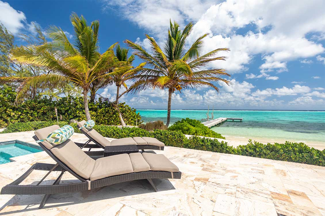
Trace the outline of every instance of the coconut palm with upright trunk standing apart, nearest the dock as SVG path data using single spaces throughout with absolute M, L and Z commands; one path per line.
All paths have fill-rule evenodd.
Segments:
M 134 49 L 135 55 L 147 62 L 150 68 L 143 68 L 137 75 L 136 81 L 130 86 L 129 92 L 138 92 L 146 88 L 168 89 L 167 123 L 170 123 L 170 110 L 172 94 L 176 90 L 181 92 L 182 88 L 197 88 L 200 86 L 210 86 L 219 90 L 213 81 L 223 81 L 229 84 L 227 79 L 220 76 L 230 76 L 225 69 L 210 68 L 202 69 L 214 60 L 225 60 L 225 56 L 215 56 L 220 51 L 230 51 L 228 48 L 215 49 L 209 53 L 201 55 L 203 39 L 208 34 L 200 36 L 187 50 L 186 42 L 188 35 L 192 31 L 193 24 L 190 22 L 183 31 L 179 30 L 179 25 L 170 21 L 167 41 L 164 50 L 157 42 L 146 35 L 150 42 L 151 54 L 142 46 L 126 40 L 125 43 Z

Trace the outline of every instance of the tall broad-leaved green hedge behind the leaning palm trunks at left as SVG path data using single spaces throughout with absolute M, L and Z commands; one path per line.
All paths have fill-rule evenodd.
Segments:
M 46 97 L 27 100 L 14 106 L 16 92 L 11 88 L 0 90 L 0 128 L 16 122 L 29 121 L 56 121 L 55 107 L 61 121 L 69 122 L 70 119 L 84 120 L 85 108 L 83 98 L 61 98 L 58 101 Z M 95 103 L 89 102 L 91 118 L 97 124 L 120 125 L 120 118 L 116 109 L 109 102 L 99 99 Z M 125 103 L 119 104 L 125 124 L 141 124 L 141 116 L 136 110 Z

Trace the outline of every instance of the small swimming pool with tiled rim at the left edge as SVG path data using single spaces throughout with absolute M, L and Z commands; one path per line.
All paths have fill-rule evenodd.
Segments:
M 9 158 L 43 151 L 40 146 L 20 140 L 0 142 L 0 164 L 11 162 Z

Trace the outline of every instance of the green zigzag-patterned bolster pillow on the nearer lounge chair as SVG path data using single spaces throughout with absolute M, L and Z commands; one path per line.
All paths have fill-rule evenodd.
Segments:
M 50 133 L 46 139 L 41 139 L 41 140 L 38 140 L 37 142 L 43 142 L 46 140 L 47 142 L 49 142 L 53 145 L 59 145 L 62 142 L 69 139 L 73 133 L 74 133 L 73 127 L 70 125 L 65 125 L 59 129 L 53 131 L 52 133 Z

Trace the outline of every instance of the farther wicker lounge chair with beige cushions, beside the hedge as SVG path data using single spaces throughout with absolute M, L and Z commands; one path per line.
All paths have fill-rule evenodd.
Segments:
M 127 137 L 109 141 L 94 128 L 86 129 L 85 127 L 82 127 L 85 122 L 86 121 L 84 120 L 77 123 L 79 130 L 85 134 L 87 138 L 89 138 L 89 140 L 85 143 L 77 143 L 80 148 L 94 148 L 94 145 L 89 144 L 91 141 L 93 141 L 99 148 L 103 149 L 105 149 L 105 146 L 136 145 L 137 148 L 142 152 L 144 152 L 145 149 L 163 150 L 165 146 L 163 142 L 152 137 Z

